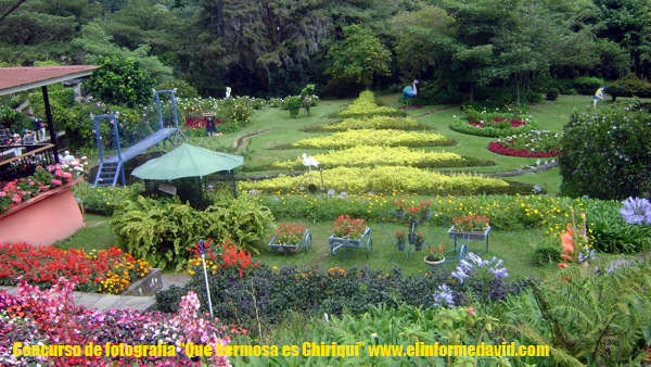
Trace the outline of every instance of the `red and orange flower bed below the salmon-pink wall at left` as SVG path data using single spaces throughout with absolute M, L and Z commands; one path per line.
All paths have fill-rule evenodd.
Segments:
M 35 248 L 27 243 L 0 243 L 0 284 L 15 286 L 17 277 L 48 288 L 61 277 L 78 277 L 77 290 L 119 293 L 131 281 L 144 277 L 151 266 L 117 248 L 91 252 L 54 246 Z

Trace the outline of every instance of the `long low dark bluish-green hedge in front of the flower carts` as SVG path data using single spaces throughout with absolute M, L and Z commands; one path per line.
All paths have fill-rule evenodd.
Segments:
M 173 288 L 156 294 L 158 311 L 177 313 L 177 296 L 195 290 L 201 299 L 202 311 L 208 312 L 203 270 L 192 273 L 191 280 L 182 291 Z M 507 294 L 519 293 L 522 287 L 520 282 L 505 282 L 502 278 L 493 277 L 484 281 L 475 279 L 473 275 L 463 283 L 455 282 L 450 280 L 451 270 L 441 268 L 414 277 L 403 276 L 397 268 L 388 274 L 367 267 L 335 267 L 328 271 L 282 267 L 275 270 L 265 264 L 248 268 L 244 277 L 240 277 L 235 268 L 210 273 L 208 281 L 213 312 L 225 322 L 234 322 L 246 329 L 257 325 L 258 318 L 264 322 L 282 321 L 289 311 L 308 315 L 341 315 L 345 311 L 357 315 L 388 300 L 392 301 L 387 303 L 390 307 L 403 303 L 427 307 L 435 303 L 433 290 L 444 283 L 452 290 L 456 304 L 470 304 L 472 294 L 481 293 L 482 289 L 488 295 L 487 301 L 495 302 Z

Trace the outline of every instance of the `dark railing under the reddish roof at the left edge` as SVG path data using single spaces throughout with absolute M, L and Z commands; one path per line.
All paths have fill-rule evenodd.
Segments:
M 0 145 L 0 184 L 31 176 L 36 167 L 55 163 L 54 144 Z

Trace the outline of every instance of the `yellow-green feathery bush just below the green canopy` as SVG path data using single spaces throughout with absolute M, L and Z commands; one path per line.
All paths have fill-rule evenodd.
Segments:
M 256 246 L 271 230 L 273 216 L 246 197 L 219 197 L 206 211 L 181 204 L 178 197 L 154 200 L 138 197 L 116 207 L 111 225 L 131 254 L 152 266 L 180 270 L 200 239 L 229 239 L 240 249 L 258 253 Z

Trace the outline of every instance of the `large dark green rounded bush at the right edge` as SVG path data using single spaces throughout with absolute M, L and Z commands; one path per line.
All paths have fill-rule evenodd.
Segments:
M 575 113 L 563 127 L 561 194 L 622 200 L 651 195 L 651 117 L 620 105 Z

